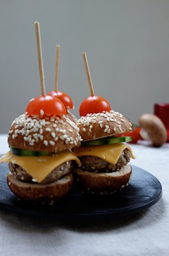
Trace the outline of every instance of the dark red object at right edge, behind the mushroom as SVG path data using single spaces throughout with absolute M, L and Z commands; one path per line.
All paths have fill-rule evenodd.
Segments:
M 169 141 L 169 103 L 154 104 L 154 115 L 158 116 L 166 127 L 167 138 Z

